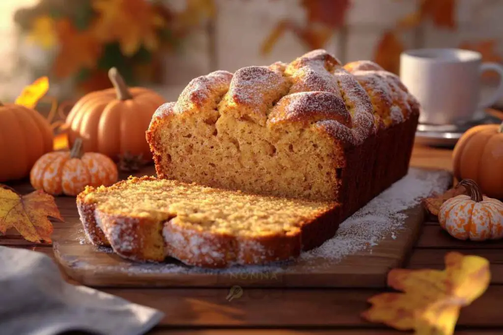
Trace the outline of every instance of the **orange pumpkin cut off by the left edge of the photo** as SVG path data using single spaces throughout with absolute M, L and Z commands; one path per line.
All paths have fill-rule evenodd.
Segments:
M 52 137 L 37 111 L 0 103 L 0 182 L 27 177 L 37 159 L 52 150 Z

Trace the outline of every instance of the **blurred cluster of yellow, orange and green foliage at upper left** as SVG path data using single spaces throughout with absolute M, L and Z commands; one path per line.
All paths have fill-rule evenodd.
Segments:
M 161 1 L 40 0 L 15 22 L 28 41 L 47 51 L 55 78 L 73 78 L 83 92 L 110 87 L 115 66 L 130 84 L 159 82 L 162 54 L 177 48 L 215 14 L 213 0 L 180 0 L 182 12 Z

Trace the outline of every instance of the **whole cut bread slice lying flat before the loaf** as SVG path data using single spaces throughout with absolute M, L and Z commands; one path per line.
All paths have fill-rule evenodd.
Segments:
M 94 245 L 125 258 L 225 267 L 295 258 L 338 228 L 339 206 L 130 177 L 87 187 L 77 208 Z

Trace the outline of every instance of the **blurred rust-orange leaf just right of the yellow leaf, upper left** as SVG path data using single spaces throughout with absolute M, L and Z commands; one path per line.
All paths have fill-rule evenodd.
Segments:
M 77 31 L 68 19 L 57 22 L 56 31 L 61 44 L 54 61 L 56 76 L 66 78 L 81 68 L 96 67 L 102 47 L 91 31 Z

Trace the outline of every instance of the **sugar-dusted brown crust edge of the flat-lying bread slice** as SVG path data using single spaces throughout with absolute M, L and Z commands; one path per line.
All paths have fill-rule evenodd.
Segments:
M 134 187 L 138 181 L 154 179 L 133 178 L 111 187 L 124 183 Z M 88 187 L 77 196 L 77 209 L 86 232 L 97 232 L 88 234 L 91 243 L 111 246 L 119 256 L 139 262 L 162 262 L 166 257 L 173 257 L 186 265 L 223 268 L 292 260 L 302 250 L 317 247 L 332 237 L 342 218 L 341 207 L 334 204 L 327 211 L 313 213 L 289 232 L 252 237 L 215 234 L 187 227 L 176 217 L 156 220 L 98 209 L 97 203 L 86 201 L 86 195 L 94 191 Z M 162 240 L 162 252 L 149 250 L 153 242 L 146 232 L 153 230 L 158 231 L 157 237 Z

